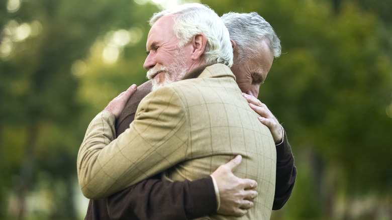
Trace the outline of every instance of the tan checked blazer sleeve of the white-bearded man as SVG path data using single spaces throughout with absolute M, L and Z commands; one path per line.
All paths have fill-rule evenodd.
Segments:
M 157 90 L 158 91 L 158 90 Z M 87 198 L 104 198 L 185 159 L 187 115 L 171 88 L 151 92 L 135 121 L 117 139 L 115 117 L 107 111 L 90 123 L 77 158 L 78 180 Z

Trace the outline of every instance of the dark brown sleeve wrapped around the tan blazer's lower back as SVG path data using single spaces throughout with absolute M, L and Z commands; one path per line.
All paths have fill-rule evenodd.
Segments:
M 192 219 L 216 209 L 210 176 L 181 182 L 150 178 L 108 198 L 111 219 Z

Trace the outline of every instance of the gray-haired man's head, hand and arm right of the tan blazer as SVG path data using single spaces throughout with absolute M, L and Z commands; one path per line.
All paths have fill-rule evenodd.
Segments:
M 260 85 L 264 83 L 274 57 L 280 56 L 280 40 L 271 25 L 255 12 L 231 12 L 221 18 L 230 33 L 234 54 L 231 70 L 236 82 L 275 141 L 277 160 L 273 209 L 280 209 L 291 194 L 297 168 L 283 127 L 268 107 L 257 99 Z

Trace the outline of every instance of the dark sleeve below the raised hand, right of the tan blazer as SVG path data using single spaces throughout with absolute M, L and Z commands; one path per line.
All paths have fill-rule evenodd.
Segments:
M 283 142 L 276 145 L 276 185 L 272 210 L 278 210 L 287 202 L 297 177 L 297 167 L 283 130 Z

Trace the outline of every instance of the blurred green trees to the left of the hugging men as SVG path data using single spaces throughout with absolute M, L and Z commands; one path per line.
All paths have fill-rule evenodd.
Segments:
M 156 11 L 155 5 L 125 0 L 0 2 L 0 218 L 23 219 L 27 197 L 38 204 L 45 200 L 34 197 L 35 191 L 48 191 L 58 202 L 47 213 L 38 207 L 29 214 L 76 218 L 72 195 L 78 146 L 94 112 L 105 107 L 100 104 L 125 90 L 133 76 L 139 84 L 145 78 L 145 46 L 139 41 Z M 115 44 L 117 54 L 106 56 L 122 59 L 118 65 L 101 57 L 87 60 L 96 55 L 94 43 L 102 39 L 111 46 L 104 38 L 119 30 L 125 45 Z M 85 102 L 91 88 L 107 93 L 107 99 Z

